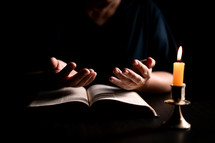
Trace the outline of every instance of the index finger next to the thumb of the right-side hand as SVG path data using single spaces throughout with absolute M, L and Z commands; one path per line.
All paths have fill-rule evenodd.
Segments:
M 144 65 L 142 62 L 140 62 L 139 60 L 134 60 L 132 65 L 133 65 L 133 68 L 137 70 L 137 72 L 139 72 L 143 77 L 148 76 L 149 68 L 146 65 Z

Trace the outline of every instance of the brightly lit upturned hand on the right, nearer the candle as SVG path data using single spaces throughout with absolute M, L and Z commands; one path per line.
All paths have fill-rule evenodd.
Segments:
M 143 91 L 147 86 L 147 81 L 151 77 L 152 68 L 155 66 L 155 60 L 151 57 L 144 60 L 134 60 L 132 67 L 114 68 L 113 73 L 116 77 L 111 76 L 109 81 L 126 90 Z

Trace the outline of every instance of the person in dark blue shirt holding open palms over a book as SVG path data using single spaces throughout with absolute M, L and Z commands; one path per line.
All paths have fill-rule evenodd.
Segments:
M 45 71 L 44 86 L 102 83 L 170 92 L 177 46 L 152 0 L 82 0 L 56 7 L 39 17 L 37 48 L 27 63 L 31 71 Z

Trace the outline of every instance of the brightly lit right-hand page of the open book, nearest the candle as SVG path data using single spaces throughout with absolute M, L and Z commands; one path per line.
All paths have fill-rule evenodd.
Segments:
M 93 102 L 99 100 L 116 100 L 138 106 L 147 106 L 152 110 L 154 115 L 157 116 L 155 110 L 145 102 L 137 92 L 134 91 L 127 91 L 114 86 L 97 84 L 88 88 L 87 93 L 90 106 Z

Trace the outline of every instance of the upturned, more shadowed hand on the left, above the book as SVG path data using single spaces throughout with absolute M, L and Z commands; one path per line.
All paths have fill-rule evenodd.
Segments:
M 58 87 L 81 87 L 89 85 L 97 73 L 93 69 L 84 68 L 79 72 L 75 71 L 74 62 L 65 63 L 55 57 L 50 59 L 52 71 L 54 73 L 55 85 Z

